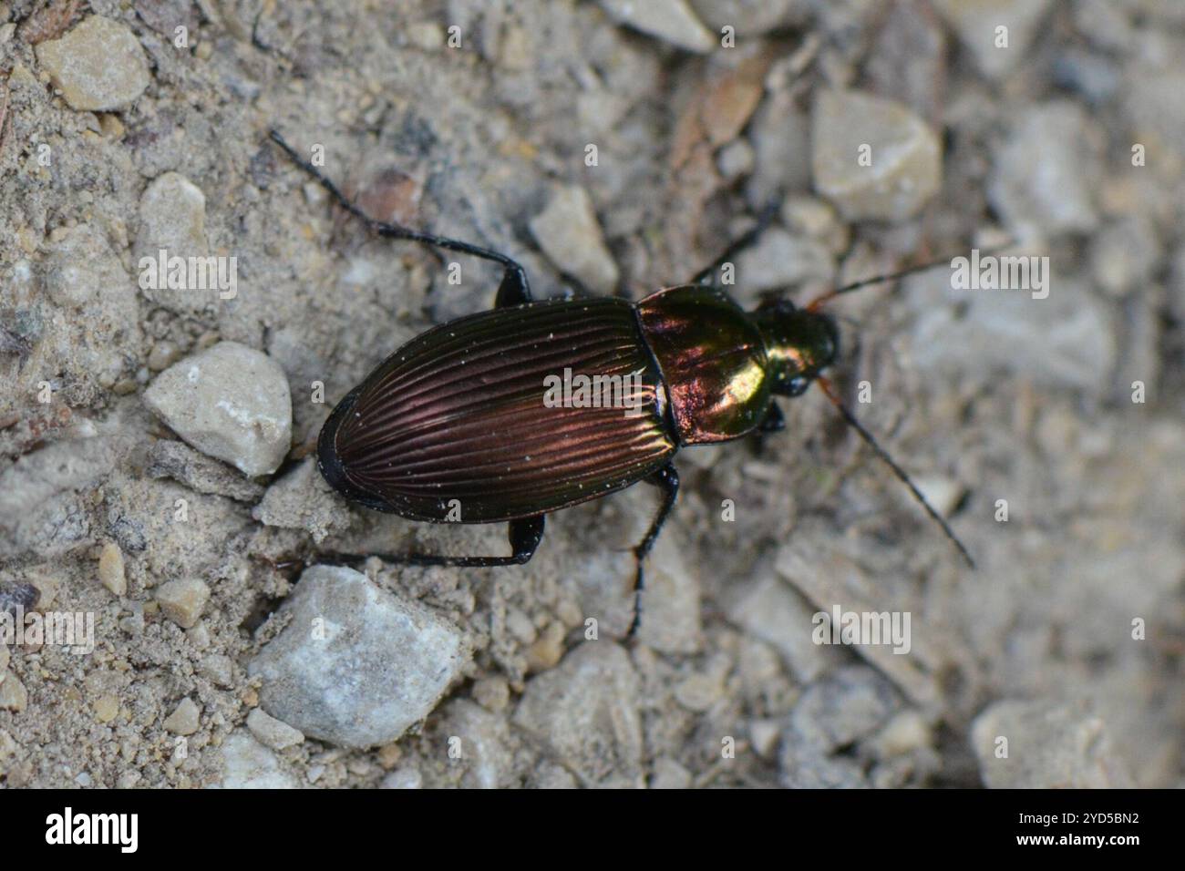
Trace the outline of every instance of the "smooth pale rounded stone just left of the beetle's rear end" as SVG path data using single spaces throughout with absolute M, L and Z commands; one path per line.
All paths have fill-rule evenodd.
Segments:
M 254 478 L 276 470 L 292 441 L 292 397 L 267 354 L 223 341 L 169 366 L 145 404 L 198 450 Z

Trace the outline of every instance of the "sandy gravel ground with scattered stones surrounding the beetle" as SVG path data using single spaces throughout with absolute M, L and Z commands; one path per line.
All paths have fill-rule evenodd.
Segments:
M 0 783 L 1180 786 L 1183 58 L 1173 0 L 0 2 Z M 309 456 L 498 270 L 370 236 L 271 128 L 538 296 L 686 281 L 774 200 L 745 306 L 1048 258 L 832 306 L 978 569 L 811 390 L 680 454 L 633 642 L 649 487 L 523 568 L 302 574 L 505 547 Z M 905 643 L 815 643 L 834 609 Z

